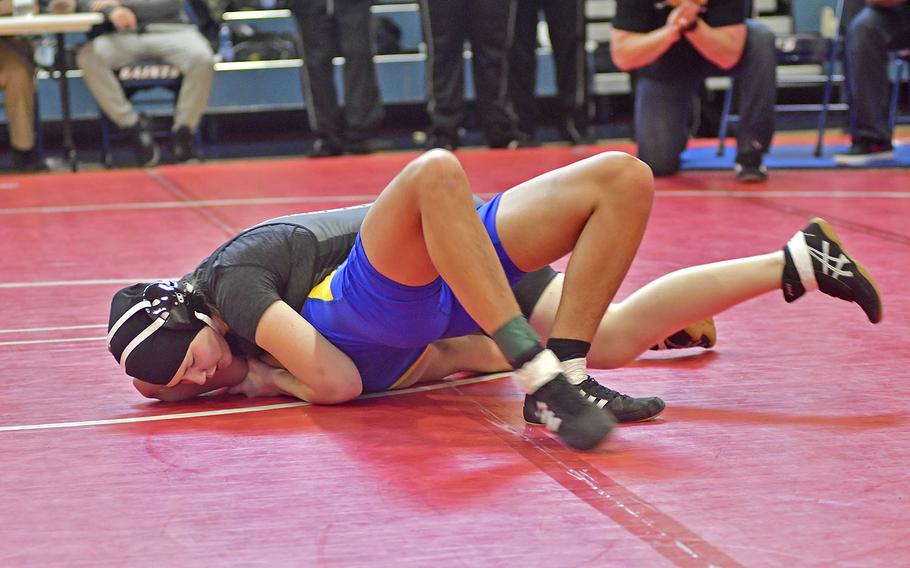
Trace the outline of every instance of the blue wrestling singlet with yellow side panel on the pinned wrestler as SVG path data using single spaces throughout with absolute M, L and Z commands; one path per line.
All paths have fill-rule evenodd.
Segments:
M 499 242 L 500 197 L 478 206 L 477 213 L 512 286 L 525 273 Z M 367 259 L 359 234 L 347 260 L 310 292 L 301 315 L 354 361 L 364 392 L 410 386 L 430 343 L 478 329 L 442 278 L 405 286 L 380 274 Z

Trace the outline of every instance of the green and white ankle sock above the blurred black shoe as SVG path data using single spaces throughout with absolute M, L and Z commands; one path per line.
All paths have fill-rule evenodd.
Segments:
M 516 316 L 490 336 L 515 369 L 513 378 L 527 394 L 550 382 L 561 372 L 559 359 L 540 345 L 540 337 L 524 316 Z

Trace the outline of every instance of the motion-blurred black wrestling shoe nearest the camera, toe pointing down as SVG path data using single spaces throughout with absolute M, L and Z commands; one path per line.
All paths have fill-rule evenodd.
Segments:
M 525 396 L 525 420 L 543 424 L 570 448 L 590 450 L 613 430 L 616 420 L 578 396 L 562 374 Z

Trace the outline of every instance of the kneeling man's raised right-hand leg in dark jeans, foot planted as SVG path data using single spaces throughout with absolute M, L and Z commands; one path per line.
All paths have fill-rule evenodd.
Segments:
M 771 30 L 752 20 L 747 20 L 746 25 L 746 45 L 739 63 L 731 71 L 740 97 L 736 161 L 758 165 L 774 136 L 777 51 Z

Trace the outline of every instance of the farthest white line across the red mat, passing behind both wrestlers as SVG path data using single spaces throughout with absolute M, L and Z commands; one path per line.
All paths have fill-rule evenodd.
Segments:
M 660 197 L 814 197 L 823 199 L 910 199 L 907 191 L 725 191 L 710 189 L 659 190 Z M 195 201 L 155 201 L 142 203 L 109 203 L 98 205 L 54 205 L 44 207 L 13 207 L 0 209 L 0 215 L 29 215 L 36 213 L 85 213 L 95 211 L 130 211 L 145 209 L 188 209 L 194 207 L 236 207 L 246 205 L 281 205 L 286 203 L 366 203 L 376 199 L 369 195 L 320 195 L 309 197 L 254 197 L 237 199 L 204 199 Z

